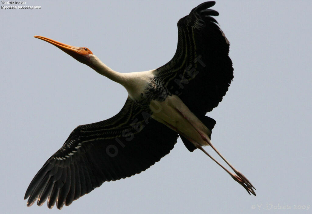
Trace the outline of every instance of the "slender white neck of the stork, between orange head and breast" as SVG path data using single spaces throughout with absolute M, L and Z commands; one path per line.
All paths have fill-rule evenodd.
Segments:
M 92 68 L 99 74 L 113 80 L 114 82 L 120 83 L 124 85 L 126 82 L 125 75 L 122 73 L 119 73 L 117 71 L 114 71 L 107 65 L 105 65 L 97 56 L 93 54 L 89 54 L 90 60 L 92 62 Z

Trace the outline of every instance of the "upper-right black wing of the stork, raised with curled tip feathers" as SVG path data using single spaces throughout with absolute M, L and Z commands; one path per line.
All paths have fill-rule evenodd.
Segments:
M 205 115 L 218 103 L 233 79 L 229 42 L 204 2 L 178 21 L 178 46 L 173 59 L 158 68 L 155 79 L 178 95 L 197 116 Z

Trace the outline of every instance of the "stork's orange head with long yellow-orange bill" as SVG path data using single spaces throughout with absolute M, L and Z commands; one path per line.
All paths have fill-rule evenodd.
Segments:
M 73 58 L 78 60 L 79 62 L 86 64 L 90 66 L 91 68 L 93 67 L 90 61 L 90 56 L 89 54 L 92 54 L 91 50 L 89 50 L 86 47 L 75 47 L 71 45 L 66 45 L 64 43 L 58 42 L 56 40 L 52 40 L 43 36 L 34 36 L 35 38 L 44 40 L 46 42 L 49 42 L 52 45 L 55 45 L 65 53 L 71 55 Z

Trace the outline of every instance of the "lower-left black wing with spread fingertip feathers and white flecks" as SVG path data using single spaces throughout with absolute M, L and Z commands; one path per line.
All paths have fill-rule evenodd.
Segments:
M 159 134 L 161 133 L 161 134 Z M 114 117 L 78 126 L 35 175 L 25 199 L 31 206 L 70 205 L 105 181 L 130 177 L 167 155 L 178 134 L 128 99 Z

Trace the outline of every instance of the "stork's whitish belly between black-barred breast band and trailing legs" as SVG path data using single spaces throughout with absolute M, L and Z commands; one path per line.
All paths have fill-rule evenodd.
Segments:
M 211 130 L 188 109 L 178 96 L 168 96 L 163 102 L 152 100 L 149 107 L 155 120 L 188 138 L 195 146 L 196 144 L 208 145 L 199 132 L 209 139 L 208 135 L 211 134 Z

